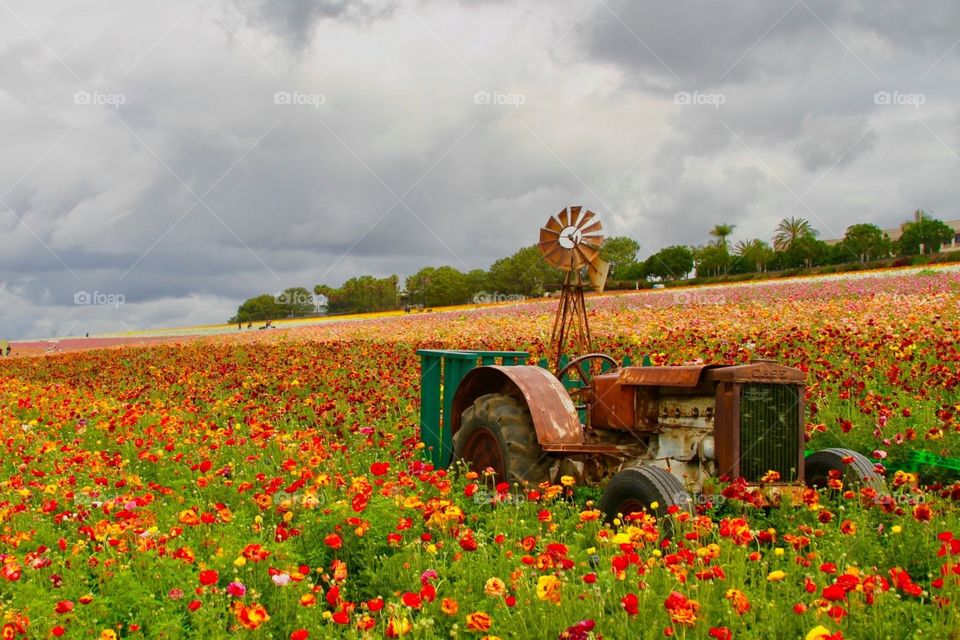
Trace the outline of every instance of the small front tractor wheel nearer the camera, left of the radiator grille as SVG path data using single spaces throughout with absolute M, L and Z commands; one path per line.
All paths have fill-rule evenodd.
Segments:
M 613 476 L 600 499 L 600 509 L 607 522 L 642 511 L 662 518 L 672 506 L 692 513 L 693 500 L 675 475 L 650 465 L 624 469 Z M 671 536 L 672 523 L 662 531 L 664 536 Z

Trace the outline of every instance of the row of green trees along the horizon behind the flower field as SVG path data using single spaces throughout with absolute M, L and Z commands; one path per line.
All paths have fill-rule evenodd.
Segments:
M 680 280 L 691 272 L 698 277 L 778 271 L 850 262 L 866 263 L 894 255 L 916 255 L 939 250 L 954 237 L 953 229 L 917 211 L 914 222 L 904 225 L 892 241 L 873 224 L 847 228 L 843 239 L 828 245 L 817 230 L 802 218 L 785 218 L 767 243 L 759 238 L 731 246 L 735 225 L 718 224 L 710 230 L 713 240 L 697 247 L 674 245 L 645 260 L 637 260 L 640 245 L 627 237 L 607 238 L 601 257 L 610 263 L 610 279 L 619 281 Z M 317 285 L 311 293 L 303 287 L 283 293 L 260 295 L 240 305 L 232 322 L 295 318 L 320 313 L 354 313 L 398 309 L 403 306 L 444 306 L 469 302 L 480 292 L 498 296 L 540 296 L 562 282 L 563 273 L 543 259 L 536 245 L 494 262 L 486 271 L 462 272 L 454 267 L 424 267 L 404 281 L 400 278 L 359 276 L 340 287 Z

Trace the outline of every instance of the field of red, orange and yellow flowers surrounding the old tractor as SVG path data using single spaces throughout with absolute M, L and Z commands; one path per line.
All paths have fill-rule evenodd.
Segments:
M 960 274 L 609 295 L 597 350 L 807 372 L 809 490 L 610 527 L 418 446 L 418 348 L 543 355 L 555 302 L 0 360 L 0 624 L 29 638 L 960 638 Z

